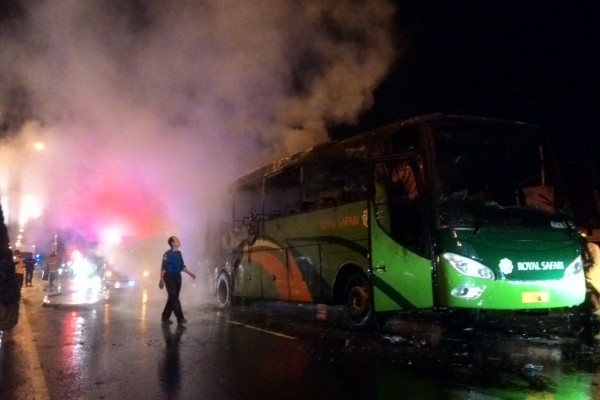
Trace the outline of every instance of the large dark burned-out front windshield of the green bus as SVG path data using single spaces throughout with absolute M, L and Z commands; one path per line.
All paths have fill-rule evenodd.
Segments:
M 535 131 L 434 132 L 442 226 L 529 228 L 566 221 L 553 163 Z

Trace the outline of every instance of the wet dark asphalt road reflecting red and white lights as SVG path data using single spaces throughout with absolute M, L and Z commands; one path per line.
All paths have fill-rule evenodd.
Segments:
M 41 281 L 36 281 L 38 284 Z M 339 310 L 253 303 L 220 310 L 184 284 L 185 327 L 160 323 L 157 288 L 108 297 L 23 289 L 2 335 L 2 399 L 594 399 L 593 343 L 393 319 L 379 334 Z M 44 297 L 54 294 L 44 302 Z M 89 303 L 89 304 L 88 304 Z M 541 332 L 541 333 L 539 333 Z

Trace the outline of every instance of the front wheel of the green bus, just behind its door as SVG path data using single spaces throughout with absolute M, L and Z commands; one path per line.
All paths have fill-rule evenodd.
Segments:
M 370 328 L 373 320 L 371 285 L 364 275 L 355 273 L 346 281 L 344 308 L 355 328 Z

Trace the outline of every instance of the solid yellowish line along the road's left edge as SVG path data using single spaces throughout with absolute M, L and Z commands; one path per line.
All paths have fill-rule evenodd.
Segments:
M 46 376 L 44 375 L 40 356 L 35 347 L 35 342 L 33 341 L 31 325 L 29 324 L 27 315 L 27 307 L 21 302 L 19 308 L 21 312 L 17 328 L 20 331 L 20 335 L 17 336 L 16 340 L 20 342 L 26 358 L 25 364 L 27 365 L 27 371 L 25 371 L 25 375 L 29 378 L 29 388 L 33 390 L 34 398 L 36 400 L 50 400 Z

